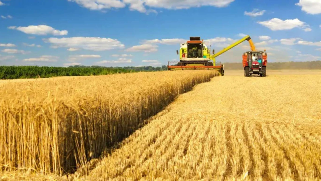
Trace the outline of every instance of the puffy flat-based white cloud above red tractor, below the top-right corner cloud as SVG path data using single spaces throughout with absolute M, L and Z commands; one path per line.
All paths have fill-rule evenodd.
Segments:
M 299 19 L 289 19 L 289 20 L 281 20 L 279 18 L 273 18 L 268 21 L 258 21 L 257 23 L 269 28 L 272 31 L 278 30 L 291 30 L 293 28 L 299 27 L 304 28 L 308 26 L 306 23 L 300 21 Z

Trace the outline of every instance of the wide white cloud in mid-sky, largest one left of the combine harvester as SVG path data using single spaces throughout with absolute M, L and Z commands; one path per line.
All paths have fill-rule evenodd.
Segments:
M 117 39 L 100 37 L 71 37 L 71 38 L 48 38 L 43 39 L 46 43 L 51 43 L 52 48 L 73 47 L 85 50 L 105 51 L 113 49 L 122 49 L 125 47 Z

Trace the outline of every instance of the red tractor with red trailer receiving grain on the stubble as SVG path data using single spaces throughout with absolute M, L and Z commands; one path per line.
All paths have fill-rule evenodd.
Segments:
M 252 74 L 266 76 L 267 54 L 263 51 L 247 51 L 243 53 L 244 76 L 250 77 Z

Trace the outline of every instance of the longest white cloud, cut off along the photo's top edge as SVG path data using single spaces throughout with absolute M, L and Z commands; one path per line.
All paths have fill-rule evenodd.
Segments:
M 68 0 L 91 10 L 124 8 L 126 4 L 132 11 L 157 13 L 151 8 L 188 9 L 191 7 L 214 6 L 226 7 L 235 0 Z

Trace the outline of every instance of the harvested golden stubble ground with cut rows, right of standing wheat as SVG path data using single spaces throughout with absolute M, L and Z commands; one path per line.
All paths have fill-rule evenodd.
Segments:
M 214 77 L 72 175 L 3 178 L 321 180 L 321 72 L 308 74 Z

